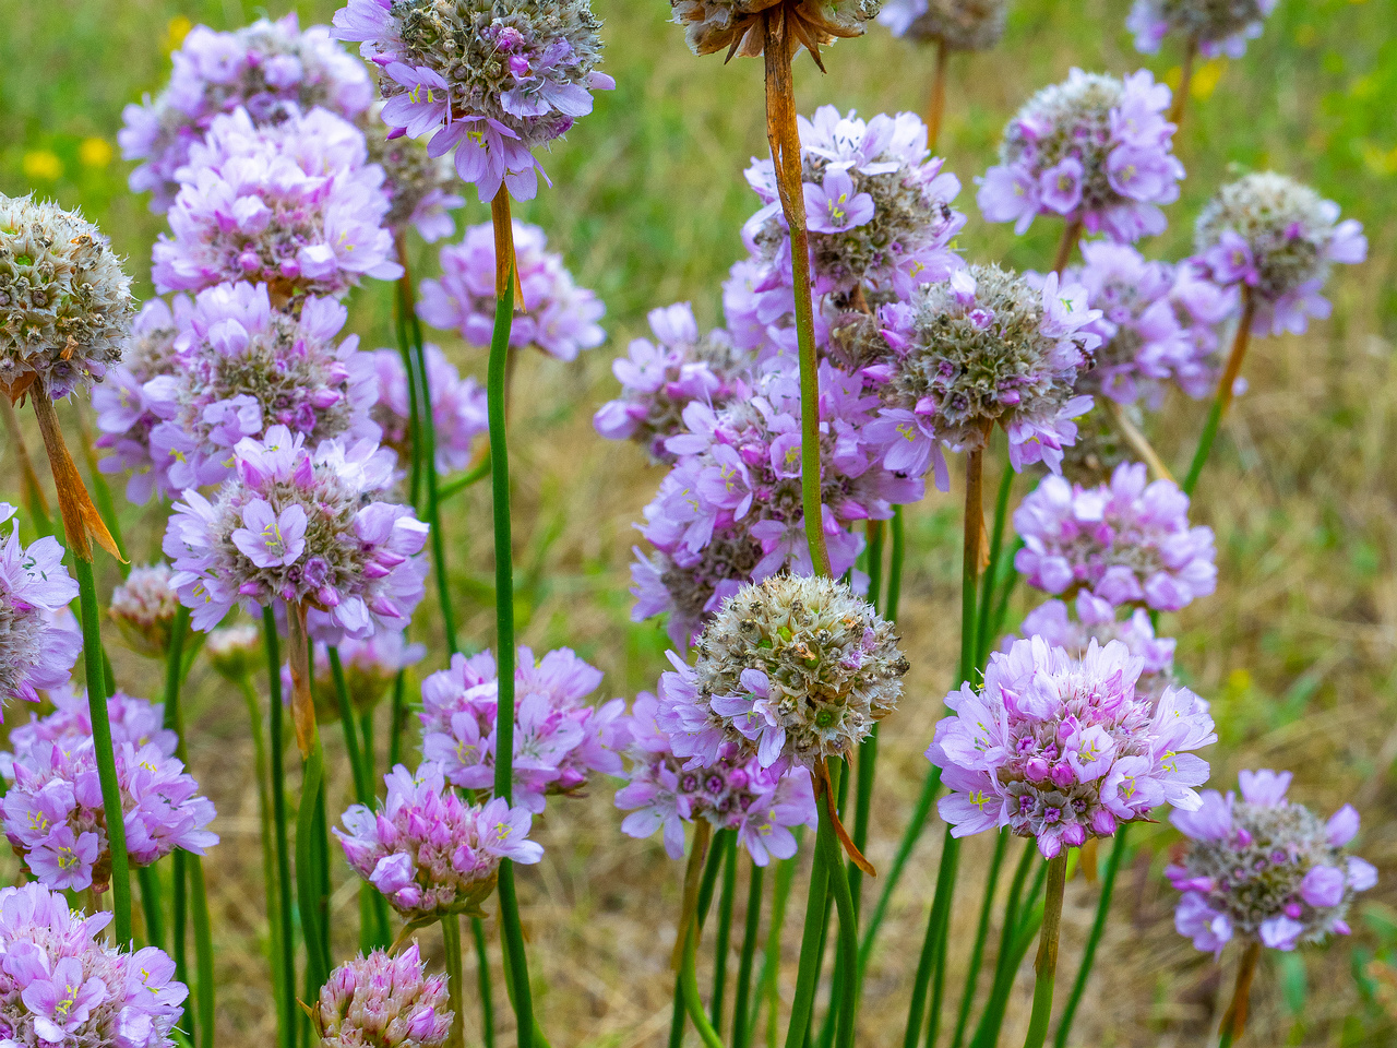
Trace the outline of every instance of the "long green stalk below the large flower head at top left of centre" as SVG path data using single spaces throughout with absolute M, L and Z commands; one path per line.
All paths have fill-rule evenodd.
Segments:
M 495 623 L 499 664 L 499 717 L 496 727 L 495 795 L 509 802 L 514 788 L 514 539 L 510 528 L 510 453 L 504 425 L 504 383 L 509 370 L 510 327 L 514 323 L 514 222 L 509 190 L 500 189 L 490 204 L 495 222 L 496 299 L 495 334 L 486 377 L 490 429 L 492 500 L 495 503 Z M 430 488 L 429 481 L 429 490 Z M 514 864 L 500 864 L 500 924 L 507 970 L 514 988 L 520 1048 L 534 1044 L 534 1000 L 524 956 L 524 929 L 514 893 Z

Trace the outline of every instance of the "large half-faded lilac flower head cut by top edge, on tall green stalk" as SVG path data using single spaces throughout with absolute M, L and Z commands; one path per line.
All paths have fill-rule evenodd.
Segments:
M 455 169 L 490 201 L 503 183 L 538 191 L 534 150 L 592 112 L 592 91 L 616 82 L 597 66 L 601 22 L 587 0 L 348 0 L 335 35 L 359 42 L 379 70 L 383 120 Z

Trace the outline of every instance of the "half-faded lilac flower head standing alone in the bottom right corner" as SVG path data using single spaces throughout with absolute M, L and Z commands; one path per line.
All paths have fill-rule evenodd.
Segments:
M 1273 950 L 1348 935 L 1344 921 L 1356 891 L 1377 883 L 1377 869 L 1344 845 L 1358 834 L 1358 812 L 1340 808 L 1327 823 L 1285 799 L 1289 771 L 1243 771 L 1242 796 L 1215 789 L 1194 812 L 1171 822 L 1192 840 L 1165 873 L 1183 893 L 1175 928 L 1200 950 L 1221 953 L 1234 938 Z

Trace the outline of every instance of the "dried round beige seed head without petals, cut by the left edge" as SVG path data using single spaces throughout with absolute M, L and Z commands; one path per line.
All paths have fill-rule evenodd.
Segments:
M 131 330 L 131 278 L 77 211 L 0 194 L 0 393 L 53 400 L 101 380 Z

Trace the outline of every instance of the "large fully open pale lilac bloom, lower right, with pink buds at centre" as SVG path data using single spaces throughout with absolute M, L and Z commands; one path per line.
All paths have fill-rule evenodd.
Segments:
M 1141 694 L 1141 667 L 1120 641 L 1081 660 L 1042 637 L 990 655 L 981 689 L 946 696 L 953 715 L 926 750 L 951 834 L 1007 826 L 1052 858 L 1160 805 L 1196 809 L 1208 766 L 1189 750 L 1217 741 L 1213 718 L 1187 689 Z

